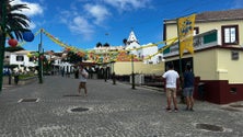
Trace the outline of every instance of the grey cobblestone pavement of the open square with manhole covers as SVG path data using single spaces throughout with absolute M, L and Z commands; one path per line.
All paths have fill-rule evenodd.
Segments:
M 0 94 L 0 137 L 241 137 L 242 102 L 230 106 L 196 101 L 195 112 L 165 111 L 161 91 L 104 80 L 48 76 Z

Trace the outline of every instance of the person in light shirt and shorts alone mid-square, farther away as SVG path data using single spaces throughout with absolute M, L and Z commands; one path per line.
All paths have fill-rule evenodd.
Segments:
M 79 94 L 81 94 L 81 89 L 84 89 L 84 95 L 88 95 L 86 91 L 86 79 L 89 77 L 89 73 L 83 68 L 83 66 L 80 66 L 80 82 L 79 82 Z

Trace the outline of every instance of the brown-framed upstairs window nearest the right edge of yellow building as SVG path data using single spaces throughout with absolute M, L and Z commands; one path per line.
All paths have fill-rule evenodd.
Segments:
M 239 45 L 238 25 L 222 26 L 222 45 Z

